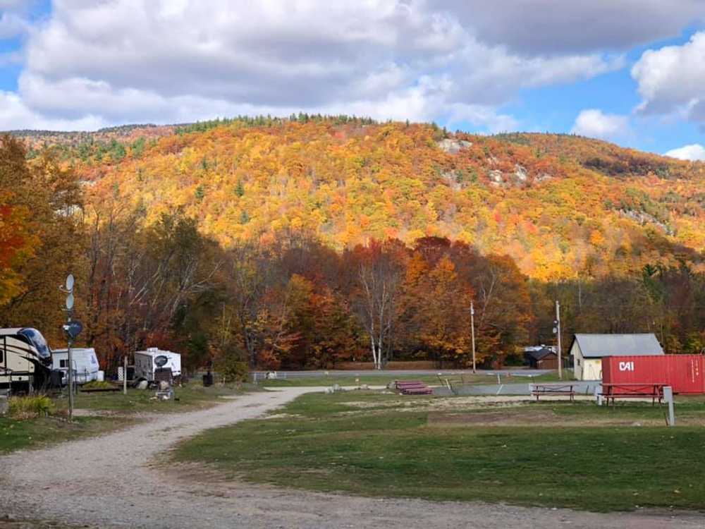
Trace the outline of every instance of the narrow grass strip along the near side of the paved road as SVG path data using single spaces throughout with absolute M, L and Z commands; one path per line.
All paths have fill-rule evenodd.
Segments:
M 441 371 L 439 371 L 441 372 Z M 389 382 L 393 380 L 406 379 L 406 380 L 420 380 L 426 384 L 439 386 L 445 384 L 445 379 L 449 379 L 452 384 L 496 384 L 496 375 L 484 375 L 477 374 L 472 375 L 472 373 L 463 373 L 462 375 L 453 374 L 452 371 L 441 372 L 442 375 L 364 375 L 361 372 L 360 375 L 355 374 L 340 374 L 334 373 L 331 375 L 321 375 L 319 377 L 292 377 L 292 378 L 281 378 L 281 379 L 264 379 L 257 382 L 262 387 L 301 387 L 301 386 L 332 386 L 333 384 L 339 384 L 341 386 L 357 386 L 360 384 L 367 384 L 368 386 L 386 386 Z M 568 379 L 572 376 L 572 373 L 565 375 L 564 379 Z M 529 383 L 529 382 L 554 382 L 558 381 L 558 374 L 551 372 L 546 373 L 546 375 L 539 375 L 537 377 L 522 377 L 522 376 L 509 376 L 508 374 L 501 375 L 501 382 L 503 384 L 508 383 Z

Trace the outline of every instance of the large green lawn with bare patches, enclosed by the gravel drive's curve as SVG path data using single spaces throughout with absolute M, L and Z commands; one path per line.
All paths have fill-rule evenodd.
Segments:
M 642 403 L 484 406 L 477 398 L 309 394 L 271 418 L 205 432 L 175 457 L 231 478 L 318 491 L 705 509 L 705 403 L 680 400 L 682 426 L 667 428 L 663 408 Z

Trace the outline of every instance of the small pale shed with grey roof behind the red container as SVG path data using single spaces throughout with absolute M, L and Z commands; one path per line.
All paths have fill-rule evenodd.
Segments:
M 653 333 L 576 334 L 570 346 L 578 380 L 601 380 L 603 356 L 663 355 Z

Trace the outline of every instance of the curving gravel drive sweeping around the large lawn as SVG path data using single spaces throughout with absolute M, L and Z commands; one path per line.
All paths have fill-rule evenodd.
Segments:
M 705 516 L 594 514 L 481 503 L 369 499 L 174 478 L 150 466 L 181 439 L 253 418 L 315 388 L 247 394 L 93 439 L 0 458 L 3 515 L 99 528 L 703 528 Z M 256 447 L 255 447 L 256 449 Z M 171 473 L 173 474 L 173 473 Z M 1 523 L 0 523 L 1 527 Z

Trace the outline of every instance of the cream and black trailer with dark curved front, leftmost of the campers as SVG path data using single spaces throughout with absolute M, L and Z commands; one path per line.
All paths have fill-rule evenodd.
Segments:
M 0 388 L 30 391 L 49 383 L 51 349 L 31 327 L 0 329 Z

